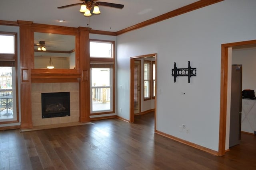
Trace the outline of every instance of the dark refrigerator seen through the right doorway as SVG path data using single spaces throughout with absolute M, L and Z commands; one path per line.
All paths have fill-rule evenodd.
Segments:
M 229 147 L 240 143 L 242 114 L 242 65 L 232 64 Z

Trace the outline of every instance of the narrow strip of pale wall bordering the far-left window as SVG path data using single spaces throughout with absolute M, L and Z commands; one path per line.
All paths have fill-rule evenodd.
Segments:
M 14 26 L 6 26 L 6 25 L 0 25 L 0 31 L 2 32 L 14 32 L 17 33 L 17 53 L 18 53 L 18 75 L 20 74 L 20 27 L 14 27 Z M 18 76 L 18 101 L 20 103 L 20 76 Z M 19 119 L 20 119 L 20 105 L 19 107 Z M 0 124 L 0 127 L 4 126 L 16 126 L 20 125 L 20 120 L 19 123 L 9 123 L 9 124 Z

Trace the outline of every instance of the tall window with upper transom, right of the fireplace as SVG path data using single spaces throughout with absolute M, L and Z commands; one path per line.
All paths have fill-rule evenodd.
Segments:
M 114 41 L 90 40 L 91 115 L 114 113 Z

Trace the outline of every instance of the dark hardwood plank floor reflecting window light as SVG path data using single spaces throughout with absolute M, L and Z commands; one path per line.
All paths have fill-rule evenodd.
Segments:
M 220 157 L 154 134 L 153 113 L 137 115 L 135 122 L 105 119 L 76 127 L 0 131 L 0 169 L 256 169 L 254 135 L 242 134 L 241 144 Z

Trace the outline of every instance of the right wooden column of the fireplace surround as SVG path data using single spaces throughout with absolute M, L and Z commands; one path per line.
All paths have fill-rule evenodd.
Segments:
M 81 79 L 79 81 L 79 122 L 90 121 L 90 48 L 89 29 L 78 27 Z

